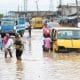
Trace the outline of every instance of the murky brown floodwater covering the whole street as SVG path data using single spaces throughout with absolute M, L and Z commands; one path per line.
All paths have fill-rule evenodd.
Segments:
M 0 51 L 0 80 L 80 80 L 80 53 L 43 52 L 42 30 L 26 31 L 22 38 L 25 49 L 22 60 L 4 58 Z

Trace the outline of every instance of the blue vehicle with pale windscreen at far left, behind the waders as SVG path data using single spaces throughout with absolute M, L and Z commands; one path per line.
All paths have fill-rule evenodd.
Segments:
M 0 21 L 0 34 L 4 37 L 5 33 L 15 35 L 16 31 L 15 19 L 4 18 Z

